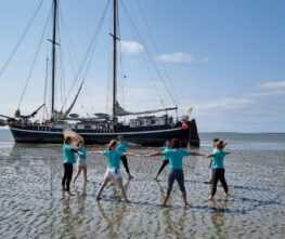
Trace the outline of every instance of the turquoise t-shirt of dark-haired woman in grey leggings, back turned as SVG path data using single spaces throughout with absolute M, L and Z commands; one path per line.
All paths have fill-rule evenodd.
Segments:
M 169 170 L 182 170 L 182 159 L 184 156 L 190 156 L 190 151 L 184 149 L 168 149 L 164 155 L 169 159 Z

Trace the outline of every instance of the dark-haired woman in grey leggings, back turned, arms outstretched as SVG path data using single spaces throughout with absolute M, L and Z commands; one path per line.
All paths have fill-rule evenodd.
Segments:
M 179 188 L 182 192 L 184 204 L 185 207 L 187 207 L 189 203 L 187 203 L 186 190 L 184 186 L 184 173 L 183 173 L 182 160 L 183 160 L 183 157 L 185 156 L 203 156 L 197 152 L 190 152 L 187 150 L 181 149 L 180 145 L 181 145 L 180 141 L 178 138 L 173 138 L 171 141 L 171 149 L 168 149 L 161 152 L 159 151 L 159 152 L 146 155 L 148 157 L 164 155 L 169 159 L 168 187 L 167 187 L 167 192 L 166 192 L 166 196 L 163 202 L 164 207 L 166 205 L 169 199 L 174 181 L 178 182 Z

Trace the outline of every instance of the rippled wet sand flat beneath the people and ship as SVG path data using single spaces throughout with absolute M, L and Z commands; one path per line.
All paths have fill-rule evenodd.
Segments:
M 177 184 L 168 207 L 160 207 L 168 171 L 160 182 L 153 180 L 160 157 L 129 157 L 134 178 L 128 181 L 121 168 L 131 201 L 125 204 L 116 185 L 108 185 L 102 200 L 95 200 L 106 170 L 102 156 L 88 156 L 90 183 L 85 185 L 79 175 L 72 187 L 76 196 L 67 198 L 61 190 L 60 145 L 0 144 L 0 238 L 284 238 L 285 150 L 231 151 L 225 159 L 228 200 L 218 187 L 216 200 L 204 202 L 209 160 L 184 159 L 190 202 L 184 209 Z

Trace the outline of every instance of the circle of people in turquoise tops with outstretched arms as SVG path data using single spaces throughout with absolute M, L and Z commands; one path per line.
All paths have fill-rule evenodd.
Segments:
M 165 147 L 158 148 L 159 151 L 148 154 L 148 155 L 139 155 L 133 152 L 127 152 L 127 146 L 128 142 L 124 141 L 124 136 L 119 135 L 116 140 L 113 140 L 109 142 L 107 149 L 103 151 L 89 151 L 89 154 L 96 154 L 96 155 L 103 155 L 107 158 L 107 170 L 104 176 L 104 181 L 101 184 L 101 186 L 98 189 L 96 199 L 101 199 L 101 194 L 104 190 L 105 186 L 108 184 L 111 180 L 116 180 L 120 190 L 122 198 L 125 202 L 129 202 L 124 185 L 122 185 L 122 177 L 120 173 L 120 161 L 122 162 L 126 172 L 128 173 L 129 178 L 132 178 L 132 175 L 130 174 L 130 170 L 128 167 L 128 160 L 127 156 L 134 156 L 134 157 L 155 157 L 155 156 L 163 156 L 164 161 L 158 170 L 157 175 L 155 176 L 155 180 L 158 178 L 159 174 L 164 170 L 164 168 L 168 165 L 169 168 L 169 174 L 168 174 L 168 186 L 167 186 L 167 192 L 165 195 L 165 199 L 163 202 L 163 205 L 167 204 L 167 201 L 170 197 L 170 192 L 173 186 L 174 181 L 178 182 L 179 188 L 182 192 L 182 198 L 184 201 L 184 205 L 186 207 L 187 199 L 186 199 L 186 190 L 184 186 L 184 173 L 183 173 L 183 158 L 187 156 L 199 156 L 204 158 L 211 158 L 209 168 L 210 168 L 210 184 L 211 184 L 211 194 L 206 200 L 213 200 L 216 190 L 217 190 L 217 184 L 220 181 L 223 189 L 224 189 L 224 196 L 228 197 L 228 184 L 224 178 L 224 167 L 223 167 L 223 160 L 226 155 L 230 152 L 225 152 L 223 150 L 224 146 L 230 141 L 226 141 L 224 144 L 223 141 L 215 138 L 213 140 L 213 150 L 210 155 L 202 155 L 198 152 L 192 152 L 185 149 L 181 148 L 181 143 L 178 138 L 173 138 L 171 142 L 167 141 Z M 78 147 L 75 148 L 73 145 L 73 138 L 66 137 L 64 145 L 63 145 L 63 165 L 64 165 L 64 176 L 62 180 L 62 186 L 63 190 L 66 191 L 68 196 L 72 196 L 70 194 L 70 182 L 73 177 L 73 164 L 76 162 L 76 154 L 78 155 L 77 159 L 77 172 L 74 176 L 73 184 L 75 184 L 78 175 L 81 171 L 83 171 L 83 178 L 85 182 L 87 181 L 87 150 L 85 148 L 83 142 L 81 141 L 78 144 Z

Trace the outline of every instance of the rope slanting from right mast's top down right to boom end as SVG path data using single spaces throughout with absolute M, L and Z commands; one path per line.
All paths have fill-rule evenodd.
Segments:
M 122 5 L 122 9 L 124 9 L 124 11 L 125 11 L 128 19 L 129 19 L 129 24 L 130 24 L 130 27 L 131 27 L 133 34 L 137 36 L 137 38 L 140 40 L 140 42 L 143 44 L 144 50 L 145 50 L 145 53 L 146 53 L 146 56 L 147 56 L 147 58 L 150 59 L 150 62 L 152 63 L 155 71 L 156 71 L 157 76 L 159 77 L 160 81 L 163 82 L 164 87 L 166 88 L 167 93 L 169 94 L 171 101 L 173 102 L 173 104 L 174 104 L 176 106 L 178 106 L 177 101 L 174 99 L 172 93 L 170 92 L 170 89 L 168 88 L 167 83 L 165 82 L 164 77 L 161 76 L 158 67 L 156 66 L 156 64 L 155 64 L 155 62 L 154 62 L 154 59 L 153 59 L 150 51 L 148 51 L 148 49 L 146 48 L 146 44 L 144 43 L 144 41 L 143 41 L 143 39 L 142 39 L 142 37 L 141 37 L 138 28 L 137 28 L 137 26 L 134 25 L 134 22 L 132 21 L 132 17 L 130 16 L 130 14 L 129 14 L 129 12 L 128 12 L 128 10 L 127 10 L 127 8 L 126 8 L 125 4 L 122 3 L 122 1 L 120 1 L 120 3 L 121 3 L 121 5 Z M 154 84 L 156 85 L 156 82 L 155 82 L 155 81 L 154 81 Z M 157 92 L 157 93 L 158 93 L 158 92 Z M 161 99 L 161 102 L 163 102 L 163 99 Z M 165 106 L 164 106 L 164 107 L 165 107 Z

